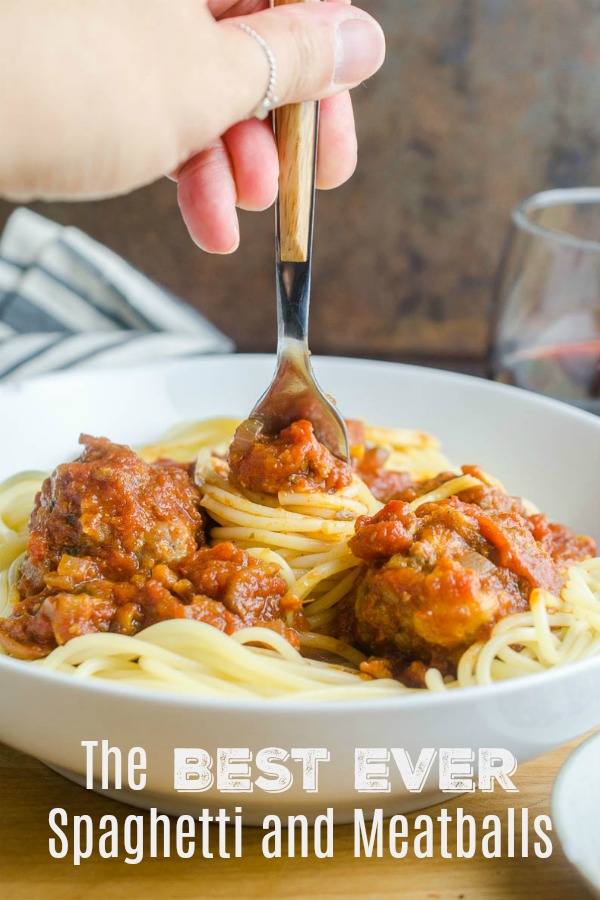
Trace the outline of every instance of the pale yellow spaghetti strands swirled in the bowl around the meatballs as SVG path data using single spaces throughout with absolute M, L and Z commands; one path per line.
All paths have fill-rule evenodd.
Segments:
M 454 509 L 453 503 L 456 507 L 463 503 L 459 497 L 472 506 L 473 498 L 486 491 L 493 493 L 495 503 L 506 505 L 510 498 L 502 486 L 475 467 L 462 473 L 454 469 L 429 435 L 366 427 L 362 444 L 353 449 L 352 479 L 340 490 L 288 488 L 275 495 L 250 491 L 236 483 L 225 458 L 236 425 L 232 419 L 211 419 L 178 427 L 141 448 L 139 455 L 147 462 L 196 459 L 200 505 L 211 522 L 210 545 L 234 544 L 250 562 L 278 573 L 286 597 L 296 599 L 306 620 L 298 632 L 299 649 L 281 629 L 260 622 L 224 634 L 205 621 L 177 618 L 150 625 L 134 636 L 107 632 L 77 636 L 30 664 L 78 679 L 213 697 L 327 701 L 390 697 L 413 690 L 410 679 L 403 684 L 385 668 L 378 673 L 383 677 L 371 677 L 377 666 L 368 660 L 365 642 L 348 639 L 336 625 L 340 610 L 343 617 L 357 592 L 360 596 L 365 568 L 370 571 L 374 565 L 377 575 L 388 567 L 413 565 L 411 559 L 394 553 L 384 563 L 372 564 L 357 549 L 355 535 L 360 538 L 361 528 L 379 527 L 381 516 L 387 532 L 392 526 L 404 528 L 408 521 L 385 518 L 394 503 L 385 504 L 385 498 L 377 499 L 369 488 L 365 448 L 378 460 L 371 484 L 381 485 L 387 473 L 410 476 L 412 487 L 402 494 L 405 518 L 417 516 L 421 521 L 423 511 Z M 31 472 L 0 485 L 0 616 L 10 616 L 20 600 L 27 523 L 42 480 L 41 473 Z M 527 510 L 533 521 L 535 508 Z M 542 525 L 534 524 L 542 535 Z M 550 534 L 547 527 L 546 533 Z M 489 559 L 470 550 L 464 559 L 463 567 L 487 577 Z M 521 575 L 512 578 L 513 590 L 517 581 L 523 590 Z M 466 649 L 458 645 L 453 671 L 428 660 L 422 686 L 440 691 L 489 684 L 600 652 L 600 559 L 576 560 L 566 568 L 558 589 L 541 582 L 528 592 L 527 603 L 498 615 L 484 639 L 470 641 Z M 374 652 L 379 655 L 377 649 Z

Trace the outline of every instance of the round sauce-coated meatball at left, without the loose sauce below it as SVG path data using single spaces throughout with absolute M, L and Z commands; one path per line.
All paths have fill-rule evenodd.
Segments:
M 200 492 L 180 465 L 149 465 L 106 438 L 82 436 L 79 459 L 46 479 L 31 516 L 22 596 L 44 587 L 63 555 L 120 581 L 181 559 L 204 542 Z

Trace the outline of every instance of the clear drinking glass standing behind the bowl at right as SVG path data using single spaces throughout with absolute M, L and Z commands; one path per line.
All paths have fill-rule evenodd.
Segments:
M 491 368 L 600 414 L 600 188 L 544 191 L 513 211 Z

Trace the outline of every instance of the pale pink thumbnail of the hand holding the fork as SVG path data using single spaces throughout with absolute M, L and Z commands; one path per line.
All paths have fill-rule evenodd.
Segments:
M 335 84 L 358 84 L 383 62 L 383 31 L 372 19 L 345 19 L 337 27 L 335 51 Z

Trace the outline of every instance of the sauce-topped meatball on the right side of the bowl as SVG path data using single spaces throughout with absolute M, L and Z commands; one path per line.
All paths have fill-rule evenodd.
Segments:
M 471 502 L 416 509 L 392 501 L 357 520 L 350 547 L 365 565 L 337 633 L 391 660 L 400 677 L 415 662 L 452 671 L 495 622 L 528 608 L 533 588 L 560 591 L 559 568 L 522 507 L 500 502 L 495 488 L 477 491 Z

